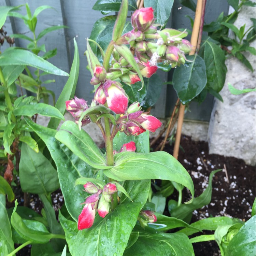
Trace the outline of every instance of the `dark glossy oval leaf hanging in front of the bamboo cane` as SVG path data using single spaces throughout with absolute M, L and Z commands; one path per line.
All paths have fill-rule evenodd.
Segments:
M 183 104 L 194 99 L 207 83 L 204 60 L 198 56 L 188 56 L 185 65 L 177 67 L 173 73 L 173 88 Z

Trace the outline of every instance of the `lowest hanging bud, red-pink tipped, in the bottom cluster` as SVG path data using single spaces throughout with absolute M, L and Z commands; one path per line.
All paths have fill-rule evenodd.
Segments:
M 96 213 L 96 205 L 91 203 L 86 203 L 82 212 L 78 216 L 77 228 L 82 230 L 85 228 L 90 228 L 93 226 Z

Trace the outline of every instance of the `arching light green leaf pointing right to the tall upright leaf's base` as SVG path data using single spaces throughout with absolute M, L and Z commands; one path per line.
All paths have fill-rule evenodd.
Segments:
M 45 103 L 17 106 L 13 113 L 16 116 L 33 116 L 34 114 L 39 114 L 42 116 L 56 117 L 61 120 L 65 120 L 59 110 L 54 108 L 54 106 Z

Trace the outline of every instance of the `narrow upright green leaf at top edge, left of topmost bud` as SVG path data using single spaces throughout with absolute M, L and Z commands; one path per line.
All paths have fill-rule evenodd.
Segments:
M 113 33 L 112 33 L 112 40 L 114 42 L 116 42 L 116 40 L 119 39 L 122 35 L 122 32 L 125 27 L 126 18 L 127 18 L 127 12 L 128 12 L 128 0 L 123 0 L 120 6 L 120 11 L 118 12 Z

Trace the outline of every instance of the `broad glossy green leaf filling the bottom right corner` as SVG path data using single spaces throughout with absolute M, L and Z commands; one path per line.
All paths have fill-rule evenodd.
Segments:
M 251 217 L 227 246 L 227 256 L 255 255 L 255 218 Z

